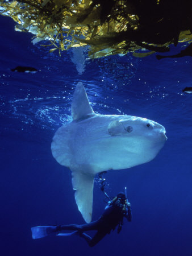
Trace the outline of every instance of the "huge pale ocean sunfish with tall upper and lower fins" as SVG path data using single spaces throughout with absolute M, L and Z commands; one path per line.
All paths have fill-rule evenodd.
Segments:
M 51 144 L 53 157 L 72 171 L 75 199 L 91 221 L 94 176 L 151 161 L 164 146 L 165 128 L 132 115 L 95 114 L 82 82 L 72 100 L 73 121 L 61 126 Z

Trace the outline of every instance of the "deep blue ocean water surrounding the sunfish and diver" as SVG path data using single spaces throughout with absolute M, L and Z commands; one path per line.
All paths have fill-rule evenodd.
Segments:
M 34 46 L 31 34 L 14 31 L 10 18 L 1 16 L 0 24 L 1 255 L 192 255 L 192 96 L 182 92 L 191 86 L 191 57 L 86 60 L 81 51 L 60 57 Z M 39 71 L 11 72 L 18 65 Z M 96 113 L 152 119 L 168 136 L 151 162 L 106 174 L 110 196 L 127 186 L 133 217 L 93 248 L 76 236 L 31 237 L 32 226 L 84 223 L 70 171 L 51 154 L 55 131 L 71 121 L 78 81 Z M 96 183 L 93 220 L 104 208 Z

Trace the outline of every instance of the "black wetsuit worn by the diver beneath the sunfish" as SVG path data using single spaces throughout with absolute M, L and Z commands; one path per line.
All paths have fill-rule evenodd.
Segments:
M 78 235 L 85 238 L 89 246 L 96 245 L 102 240 L 106 234 L 109 234 L 111 230 L 114 230 L 117 225 L 118 233 L 123 225 L 123 217 L 126 217 L 128 221 L 131 221 L 131 207 L 127 204 L 122 204 L 120 199 L 116 199 L 111 203 L 104 211 L 102 216 L 97 220 L 83 225 L 61 225 L 57 227 L 57 230 L 78 230 Z M 97 233 L 93 238 L 88 236 L 84 231 L 97 230 Z

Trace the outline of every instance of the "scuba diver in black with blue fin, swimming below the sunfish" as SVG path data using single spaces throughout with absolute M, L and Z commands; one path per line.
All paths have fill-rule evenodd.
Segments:
M 108 197 L 106 192 L 104 193 Z M 93 247 L 101 241 L 106 234 L 110 234 L 111 230 L 114 230 L 116 226 L 118 226 L 117 232 L 119 234 L 123 225 L 123 217 L 131 221 L 131 204 L 127 200 L 126 193 L 123 192 L 118 193 L 112 200 L 110 197 L 108 197 L 108 199 L 110 201 L 98 220 L 82 225 L 35 226 L 31 228 L 32 238 L 37 239 L 48 236 L 49 234 L 56 234 L 57 236 L 71 236 L 72 234 L 77 234 L 84 238 L 90 247 Z M 75 231 L 72 233 L 62 233 L 63 230 Z M 89 230 L 97 230 L 93 238 L 84 233 Z

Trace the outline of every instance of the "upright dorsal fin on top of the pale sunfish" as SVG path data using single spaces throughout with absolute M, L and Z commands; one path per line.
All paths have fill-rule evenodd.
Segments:
M 91 114 L 94 114 L 94 111 L 89 104 L 84 85 L 82 84 L 82 82 L 78 82 L 72 100 L 73 120 L 84 118 L 87 115 Z

